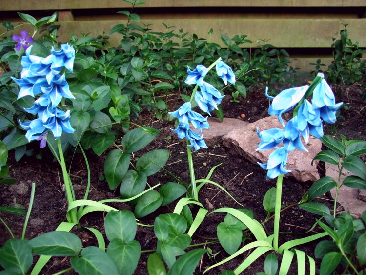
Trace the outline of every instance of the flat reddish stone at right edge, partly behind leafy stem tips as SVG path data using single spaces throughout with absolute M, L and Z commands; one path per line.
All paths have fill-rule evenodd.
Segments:
M 338 166 L 325 163 L 325 175 L 332 177 L 333 179 L 338 179 Z M 341 174 L 341 182 L 345 179 L 346 176 L 352 175 L 346 169 L 342 170 Z M 330 194 L 332 198 L 335 198 L 336 189 L 333 188 L 330 190 Z M 352 216 L 356 218 L 361 218 L 362 212 L 366 210 L 366 202 L 359 198 L 359 190 L 357 188 L 351 188 L 342 185 L 338 190 L 337 202 L 342 205 L 345 212 L 350 212 Z

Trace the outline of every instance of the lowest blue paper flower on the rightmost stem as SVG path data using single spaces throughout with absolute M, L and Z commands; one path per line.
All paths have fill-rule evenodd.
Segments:
M 280 147 L 275 149 L 268 158 L 267 163 L 258 163 L 263 169 L 267 171 L 267 178 L 274 179 L 278 177 L 280 174 L 286 174 L 291 172 L 290 170 L 286 170 L 286 162 L 287 162 L 288 153 L 285 148 Z

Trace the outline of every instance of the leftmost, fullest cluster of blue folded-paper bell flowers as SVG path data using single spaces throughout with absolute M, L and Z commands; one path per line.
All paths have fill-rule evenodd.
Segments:
M 73 71 L 75 49 L 68 45 L 61 45 L 60 50 L 51 49 L 47 57 L 31 54 L 32 46 L 27 48 L 21 59 L 23 67 L 20 79 L 12 78 L 20 86 L 18 99 L 24 96 L 35 98 L 30 108 L 24 108 L 28 113 L 37 115 L 36 119 L 20 122 L 20 126 L 27 130 L 25 137 L 28 141 L 41 140 L 51 131 L 57 139 L 62 132 L 73 133 L 75 129 L 70 125 L 70 110 L 59 109 L 62 98 L 74 99 L 65 74 L 60 74 L 63 68 Z M 41 142 L 41 147 L 45 143 Z

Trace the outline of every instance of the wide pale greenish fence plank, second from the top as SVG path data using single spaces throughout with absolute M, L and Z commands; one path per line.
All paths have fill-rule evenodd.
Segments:
M 366 47 L 366 19 L 221 19 L 213 23 L 212 19 L 195 18 L 191 20 L 175 19 L 147 19 L 145 24 L 152 24 L 153 31 L 165 32 L 162 22 L 169 26 L 175 26 L 176 33 L 179 29 L 190 34 L 197 34 L 199 38 L 208 38 L 208 32 L 213 28 L 213 34 L 208 42 L 223 45 L 221 34 L 228 37 L 234 35 L 247 35 L 252 44 L 244 44 L 242 47 L 258 47 L 263 43 L 256 43 L 257 39 L 264 39 L 279 48 L 329 48 L 332 37 L 339 37 L 342 24 L 348 24 L 348 37 L 359 42 L 360 47 Z M 81 37 L 81 32 L 90 32 L 90 36 L 109 34 L 110 29 L 116 24 L 125 24 L 125 20 L 105 21 L 65 21 L 60 22 L 58 31 L 59 41 L 67 41 L 71 34 Z M 4 28 L 0 27 L 1 32 Z M 111 35 L 111 44 L 119 44 L 122 35 Z

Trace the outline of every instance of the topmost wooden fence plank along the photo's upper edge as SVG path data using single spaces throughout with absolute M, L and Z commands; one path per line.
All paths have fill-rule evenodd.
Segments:
M 169 7 L 365 7 L 365 0 L 145 0 L 144 8 Z M 2 11 L 130 8 L 122 0 L 1 0 Z

